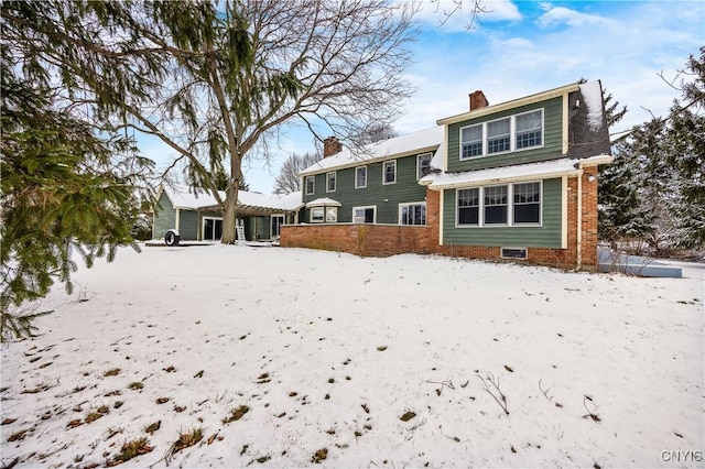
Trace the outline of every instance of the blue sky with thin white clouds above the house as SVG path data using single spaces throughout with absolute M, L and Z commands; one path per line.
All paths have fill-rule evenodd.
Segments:
M 619 129 L 628 130 L 649 120 L 649 111 L 668 112 L 679 94 L 659 73 L 674 77 L 705 45 L 703 1 L 485 0 L 488 13 L 470 31 L 467 11 L 440 25 L 451 0 L 421 4 L 422 31 L 406 73 L 415 92 L 394 124 L 402 134 L 467 111 L 468 94 L 476 89 L 494 105 L 579 78 L 600 79 L 627 106 Z M 286 155 L 313 150 L 306 132 L 286 135 L 281 149 L 270 149 L 269 161 L 243 165 L 251 190 L 271 193 Z M 143 151 L 159 165 L 167 160 L 159 146 Z

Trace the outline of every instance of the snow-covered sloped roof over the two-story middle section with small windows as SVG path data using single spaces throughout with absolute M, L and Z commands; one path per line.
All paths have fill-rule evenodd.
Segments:
M 319 162 L 308 166 L 300 176 L 321 173 L 323 171 L 338 170 L 348 166 L 358 166 L 372 161 L 400 157 L 422 153 L 424 151 L 436 151 L 443 142 L 444 128 L 434 127 L 420 130 L 406 135 L 394 137 L 393 139 L 365 145 L 360 151 L 352 152 L 345 149 L 339 153 L 325 157 Z

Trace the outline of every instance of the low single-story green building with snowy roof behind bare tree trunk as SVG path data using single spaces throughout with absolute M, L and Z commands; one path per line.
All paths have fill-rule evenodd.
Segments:
M 219 192 L 225 200 L 225 192 Z M 162 239 L 175 230 L 182 240 L 219 240 L 223 231 L 223 211 L 208 190 L 183 185 L 162 184 L 156 190 L 152 223 L 152 238 Z M 245 227 L 249 241 L 275 240 L 280 227 L 295 223 L 302 206 L 301 193 L 282 197 L 238 192 L 237 223 Z

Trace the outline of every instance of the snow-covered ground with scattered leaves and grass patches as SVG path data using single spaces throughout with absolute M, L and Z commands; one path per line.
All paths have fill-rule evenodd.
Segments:
M 704 274 L 121 250 L 2 346 L 1 463 L 703 467 Z

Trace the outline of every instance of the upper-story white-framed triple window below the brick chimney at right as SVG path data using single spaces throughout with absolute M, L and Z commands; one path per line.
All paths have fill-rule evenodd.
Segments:
M 543 109 L 460 129 L 460 160 L 543 145 Z

